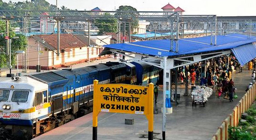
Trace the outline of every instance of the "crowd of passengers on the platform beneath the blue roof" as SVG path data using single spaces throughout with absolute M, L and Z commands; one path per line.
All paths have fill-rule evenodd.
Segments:
M 253 70 L 252 80 L 254 80 L 250 85 L 253 85 L 253 82 L 255 82 L 255 67 L 256 60 L 252 60 L 248 63 L 248 70 Z M 191 84 L 192 86 L 195 86 L 195 82 L 201 86 L 210 86 L 213 89 L 216 89 L 218 98 L 220 98 L 221 95 L 224 95 L 225 99 L 229 99 L 230 102 L 233 102 L 233 98 L 237 96 L 234 96 L 236 88 L 234 81 L 232 80 L 232 74 L 236 71 L 242 72 L 242 66 L 234 57 L 225 56 L 207 60 L 206 62 L 192 64 L 189 67 L 184 66 L 183 68 L 180 68 L 179 80 L 181 84 L 185 84 L 185 81 L 187 80 L 188 84 Z M 248 89 L 250 88 L 250 85 Z

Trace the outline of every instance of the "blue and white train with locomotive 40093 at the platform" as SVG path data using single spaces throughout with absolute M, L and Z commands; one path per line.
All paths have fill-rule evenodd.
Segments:
M 0 124 L 13 137 L 31 139 L 92 112 L 93 81 L 147 86 L 160 69 L 144 62 L 107 62 L 0 82 Z

